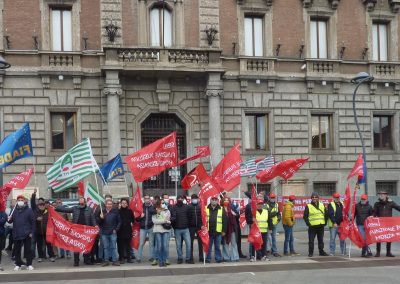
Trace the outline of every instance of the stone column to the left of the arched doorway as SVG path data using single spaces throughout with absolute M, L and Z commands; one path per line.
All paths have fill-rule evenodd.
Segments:
M 106 72 L 106 84 L 103 90 L 107 96 L 107 139 L 108 159 L 121 152 L 121 131 L 119 119 L 119 97 L 122 95 L 118 71 Z

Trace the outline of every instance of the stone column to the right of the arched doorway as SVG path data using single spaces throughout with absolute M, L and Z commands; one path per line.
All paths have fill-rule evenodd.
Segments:
M 221 96 L 223 83 L 220 73 L 210 73 L 206 95 L 208 97 L 208 131 L 211 148 L 212 166 L 215 167 L 222 157 L 221 142 Z

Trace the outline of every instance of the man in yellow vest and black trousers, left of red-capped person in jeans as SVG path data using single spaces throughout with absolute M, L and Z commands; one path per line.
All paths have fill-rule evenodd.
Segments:
M 315 236 L 318 239 L 318 250 L 320 256 L 328 256 L 324 251 L 324 227 L 328 219 L 325 206 L 319 202 L 316 192 L 311 194 L 311 203 L 304 208 L 303 219 L 308 227 L 308 257 L 314 254 Z

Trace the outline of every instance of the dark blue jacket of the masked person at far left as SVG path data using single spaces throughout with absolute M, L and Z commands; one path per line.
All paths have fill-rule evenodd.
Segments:
M 29 234 L 35 234 L 35 214 L 31 208 L 25 205 L 22 208 L 15 208 L 11 220 L 13 226 L 13 239 L 15 241 L 25 239 Z

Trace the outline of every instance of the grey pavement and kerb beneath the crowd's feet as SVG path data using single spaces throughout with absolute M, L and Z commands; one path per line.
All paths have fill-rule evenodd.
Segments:
M 283 235 L 278 236 L 278 251 L 282 253 L 283 249 Z M 329 232 L 325 232 L 325 250 L 329 252 Z M 348 255 L 319 257 L 318 250 L 316 249 L 315 257 L 309 258 L 308 254 L 308 239 L 306 232 L 295 233 L 295 249 L 301 255 L 296 257 L 273 257 L 271 261 L 257 261 L 250 262 L 247 259 L 241 259 L 237 263 L 211 263 L 203 265 L 198 263 L 197 259 L 197 244 L 194 244 L 195 251 L 195 264 L 176 264 L 177 256 L 175 249 L 175 241 L 171 240 L 170 243 L 170 261 L 171 265 L 167 268 L 159 268 L 158 266 L 151 266 L 147 261 L 148 247 L 144 249 L 144 256 L 142 263 L 123 264 L 120 267 L 109 266 L 101 267 L 100 265 L 88 266 L 84 265 L 81 260 L 79 267 L 73 266 L 72 259 L 58 259 L 56 262 L 44 260 L 38 263 L 35 259 L 33 261 L 34 271 L 13 271 L 14 265 L 8 256 L 3 256 L 2 266 L 4 272 L 0 272 L 1 281 L 43 281 L 51 279 L 99 279 L 99 278 L 124 278 L 124 277 L 143 277 L 155 275 L 189 275 L 189 274 L 212 274 L 212 273 L 230 273 L 230 272 L 243 272 L 243 271 L 283 271 L 283 270 L 299 270 L 299 269 L 324 269 L 332 267 L 368 267 L 368 266 L 393 266 L 400 265 L 400 257 L 395 258 L 361 258 L 360 250 L 352 245 L 351 258 Z M 316 247 L 316 246 L 315 246 Z M 383 245 L 382 255 L 386 254 L 385 246 Z M 242 240 L 243 253 L 248 254 L 247 240 Z M 349 244 L 348 244 L 349 249 Z M 375 245 L 371 246 L 375 252 Z M 339 245 L 337 242 L 337 251 Z M 393 254 L 400 256 L 399 243 L 393 244 Z

